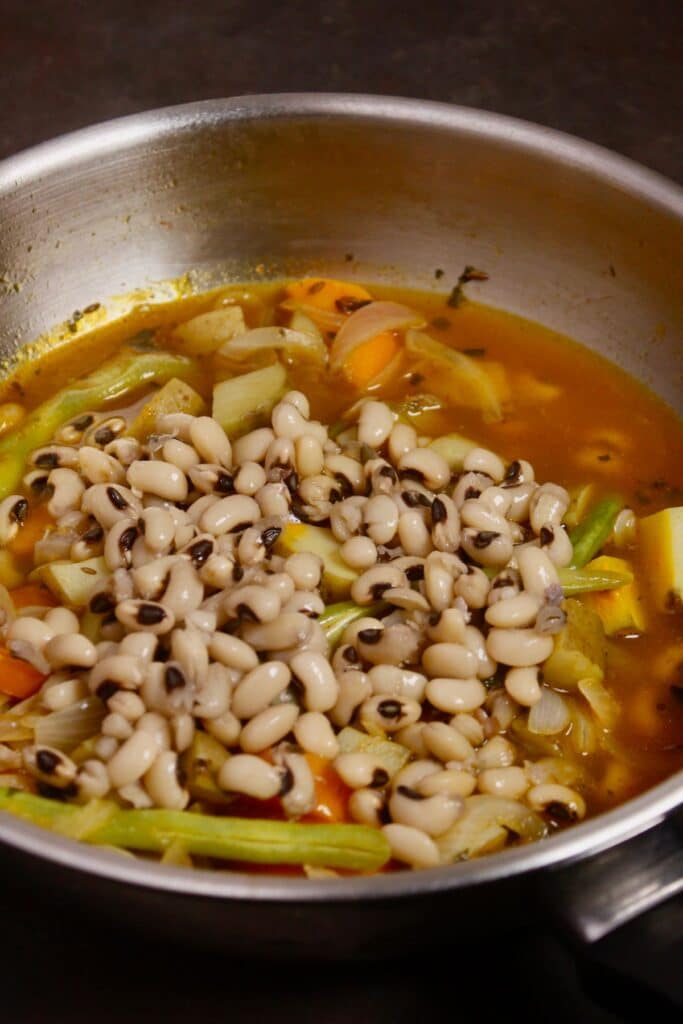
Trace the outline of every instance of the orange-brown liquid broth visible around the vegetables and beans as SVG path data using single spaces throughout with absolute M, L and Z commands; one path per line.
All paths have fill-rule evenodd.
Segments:
M 399 332 L 385 332 L 382 351 L 386 373 L 378 378 L 373 369 L 374 383 L 365 391 L 357 386 L 358 374 L 364 372 L 360 364 L 353 374 L 333 373 L 313 361 L 284 356 L 288 386 L 308 396 L 311 419 L 338 425 L 343 431 L 349 425 L 344 414 L 359 396 L 370 396 L 392 409 L 402 409 L 405 422 L 420 435 L 435 438 L 455 432 L 498 453 L 506 464 L 527 460 L 537 480 L 556 481 L 572 496 L 590 485 L 589 508 L 614 494 L 638 517 L 683 505 L 683 426 L 670 409 L 616 367 L 540 325 L 466 300 L 452 308 L 443 296 L 384 286 L 371 286 L 370 291 L 374 299 L 400 303 L 423 314 L 424 332 L 464 353 L 477 373 L 483 371 L 500 401 L 502 418 L 482 417 L 471 395 L 460 401 L 457 395 L 444 394 L 438 368 L 403 351 Z M 282 305 L 285 294 L 282 284 L 234 286 L 145 307 L 125 322 L 89 331 L 83 337 L 77 330 L 69 344 L 19 366 L 4 382 L 0 401 L 22 401 L 31 410 L 56 389 L 98 368 L 130 339 L 141 348 L 153 343 L 183 353 L 174 328 L 233 303 L 242 307 L 249 329 L 290 327 L 291 309 Z M 366 300 L 357 300 L 358 308 L 364 304 Z M 315 318 L 314 311 L 310 315 Z M 335 331 L 316 323 L 329 345 Z M 210 403 L 217 381 L 267 366 L 274 355 L 272 351 L 259 352 L 239 369 L 219 353 L 195 357 L 198 368 L 185 379 Z M 108 409 L 137 411 L 151 393 L 143 388 L 127 395 L 125 403 L 114 401 Z M 440 400 L 425 397 L 431 395 Z M 413 404 L 411 399 L 415 399 Z M 604 682 L 618 706 L 613 728 L 606 730 L 593 723 L 593 733 L 579 751 L 575 733 L 581 722 L 573 721 L 561 735 L 531 734 L 525 726 L 516 734 L 514 728 L 511 730 L 525 755 L 533 759 L 579 759 L 582 781 L 578 787 L 588 813 L 621 803 L 683 767 L 680 609 L 655 610 L 648 586 L 648 561 L 633 538 L 618 547 L 613 539 L 608 540 L 600 553 L 630 562 L 640 592 L 636 598 L 638 614 L 644 616 L 644 628 L 625 626 L 606 640 Z M 16 554 L 19 567 L 28 570 L 31 552 L 26 550 L 19 556 L 17 549 Z M 559 686 L 556 689 L 562 691 Z M 335 784 L 340 784 L 338 779 Z M 346 800 L 350 791 L 342 788 Z M 241 799 L 242 805 L 236 806 L 246 806 L 246 816 L 270 817 L 265 804 L 254 805 L 254 809 L 248 800 L 245 805 Z M 326 815 L 328 806 L 323 802 L 303 820 L 326 821 Z M 278 816 L 276 808 L 272 816 Z M 343 820 L 343 816 L 342 809 L 329 819 Z M 551 827 L 564 823 L 560 813 L 551 814 Z

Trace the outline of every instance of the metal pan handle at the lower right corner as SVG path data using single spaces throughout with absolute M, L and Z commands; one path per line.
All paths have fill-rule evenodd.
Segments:
M 584 942 L 599 939 L 683 892 L 683 815 L 547 877 L 561 923 Z

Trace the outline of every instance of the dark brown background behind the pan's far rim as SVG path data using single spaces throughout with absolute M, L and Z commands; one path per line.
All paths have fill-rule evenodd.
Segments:
M 683 177 L 680 0 L 0 0 L 0 156 L 154 106 L 379 92 L 573 132 Z

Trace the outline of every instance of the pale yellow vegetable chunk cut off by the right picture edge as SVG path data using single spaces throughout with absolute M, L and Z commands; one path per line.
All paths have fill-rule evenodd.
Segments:
M 659 611 L 683 610 L 683 506 L 641 519 L 638 542 L 656 607 Z

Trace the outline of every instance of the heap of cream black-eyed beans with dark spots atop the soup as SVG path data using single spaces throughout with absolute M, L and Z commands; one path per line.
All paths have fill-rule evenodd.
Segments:
M 201 729 L 230 754 L 222 791 L 280 798 L 298 817 L 315 802 L 314 754 L 349 786 L 350 817 L 384 828 L 413 866 L 438 862 L 435 840 L 476 793 L 583 816 L 581 795 L 504 735 L 541 699 L 563 624 L 566 490 L 483 449 L 452 475 L 379 401 L 335 439 L 298 391 L 270 422 L 230 443 L 210 417 L 176 414 L 140 443 L 125 419 L 93 414 L 33 454 L 26 484 L 57 523 L 36 563 L 102 555 L 110 570 L 84 616 L 57 607 L 5 628 L 10 649 L 49 673 L 45 709 L 91 694 L 105 706 L 84 762 L 25 748 L 36 779 L 80 802 L 181 809 L 182 755 Z M 0 504 L 1 540 L 25 507 L 18 495 Z M 321 557 L 276 553 L 292 521 L 329 526 L 358 573 L 352 600 L 381 602 L 334 650 Z M 81 631 L 93 615 L 98 643 Z M 349 724 L 410 760 L 392 776 L 369 751 L 340 753 Z

